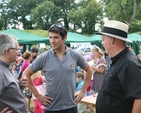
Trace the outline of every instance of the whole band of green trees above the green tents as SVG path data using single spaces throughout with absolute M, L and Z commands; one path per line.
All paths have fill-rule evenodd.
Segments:
M 134 0 L 135 1 L 135 0 Z M 103 25 L 104 16 L 130 24 L 130 33 L 141 31 L 141 0 L 1 0 L 0 29 L 17 28 L 47 30 L 61 22 L 69 31 L 93 34 L 95 25 Z M 134 9 L 136 9 L 134 11 Z M 133 15 L 135 14 L 135 16 Z

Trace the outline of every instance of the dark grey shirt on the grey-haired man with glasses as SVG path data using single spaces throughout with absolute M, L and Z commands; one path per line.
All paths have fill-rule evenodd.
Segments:
M 5 107 L 13 113 L 26 113 L 26 100 L 20 85 L 9 70 L 9 65 L 0 60 L 0 111 Z

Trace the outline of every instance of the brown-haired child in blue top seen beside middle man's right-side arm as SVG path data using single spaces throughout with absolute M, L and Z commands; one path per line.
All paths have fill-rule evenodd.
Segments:
M 82 89 L 82 86 L 84 84 L 84 73 L 82 72 L 77 72 L 77 78 L 76 78 L 76 92 L 80 91 Z M 87 96 L 87 91 L 85 92 L 85 95 Z M 86 111 L 86 104 L 83 103 L 78 103 L 77 104 L 77 109 L 78 109 L 78 113 L 84 113 Z

